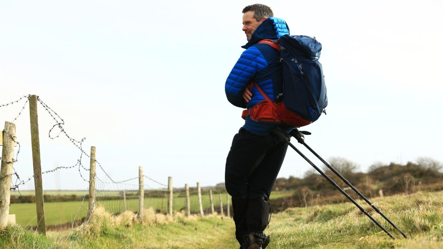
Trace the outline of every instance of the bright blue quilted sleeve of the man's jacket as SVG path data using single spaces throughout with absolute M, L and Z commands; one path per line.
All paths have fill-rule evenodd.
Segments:
M 245 50 L 226 79 L 225 93 L 228 101 L 235 106 L 246 108 L 242 94 L 257 72 L 266 66 L 268 62 L 256 47 Z

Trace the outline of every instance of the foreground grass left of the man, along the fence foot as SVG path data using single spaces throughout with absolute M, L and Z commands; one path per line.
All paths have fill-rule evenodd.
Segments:
M 136 214 L 124 212 L 118 216 L 97 208 L 88 224 L 76 232 L 48 232 L 47 236 L 25 230 L 21 226 L 8 226 L 0 230 L 2 249 L 218 249 L 235 248 L 233 221 L 226 217 L 196 215 L 184 217 L 176 213 L 173 218 L 144 210 L 143 220 Z M 70 235 L 69 235 L 70 234 Z

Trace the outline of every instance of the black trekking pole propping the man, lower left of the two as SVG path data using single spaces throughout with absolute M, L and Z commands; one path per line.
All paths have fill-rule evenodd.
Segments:
M 391 237 L 392 239 L 395 239 L 391 233 L 388 232 L 388 230 L 386 230 L 383 226 L 381 226 L 380 223 L 378 223 L 368 212 L 366 212 L 366 210 L 361 207 L 360 205 L 358 205 L 357 202 L 354 201 L 354 199 L 352 197 L 350 197 L 340 186 L 337 185 L 337 183 L 334 182 L 333 179 L 331 179 L 328 175 L 326 175 L 321 169 L 319 169 L 319 167 L 315 166 L 314 163 L 311 162 L 311 160 L 309 160 L 305 155 L 303 155 L 302 152 L 300 152 L 297 148 L 295 148 L 295 146 L 293 144 L 291 144 L 291 142 L 289 141 L 289 134 L 281 131 L 279 128 L 275 128 L 275 129 L 271 129 L 271 131 L 273 134 L 280 136 L 281 138 L 284 138 L 286 140 L 286 142 L 289 144 L 289 146 L 291 146 L 291 148 L 293 148 L 297 153 L 299 153 L 300 156 L 303 157 L 304 160 L 306 160 L 309 164 L 311 164 L 312 167 L 315 168 L 315 170 L 319 171 L 319 173 L 321 175 L 323 175 L 332 185 L 334 185 L 334 187 L 336 187 L 340 192 L 342 192 L 343 195 L 346 196 L 346 198 L 348 198 L 352 203 L 354 203 L 355 206 L 358 207 L 358 209 L 360 209 L 361 212 L 363 212 L 364 214 L 366 214 L 366 216 L 369 217 L 369 219 L 371 219 L 371 221 L 373 221 L 378 227 L 381 228 L 381 230 L 383 230 L 386 234 L 389 235 L 389 237 Z M 286 136 L 286 135 L 288 136 Z

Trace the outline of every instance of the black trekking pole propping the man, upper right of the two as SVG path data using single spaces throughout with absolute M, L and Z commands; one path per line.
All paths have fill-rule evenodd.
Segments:
M 317 154 L 313 149 L 311 149 L 311 147 L 309 147 L 305 142 L 304 142 L 304 136 L 305 135 L 310 135 L 311 132 L 301 132 L 298 130 L 293 130 L 292 132 L 289 133 L 291 136 L 293 136 L 300 144 L 303 144 L 310 152 L 312 152 L 312 154 L 314 154 L 320 161 L 322 161 L 322 163 L 324 163 L 326 165 L 326 167 L 328 167 L 332 172 L 335 173 L 335 175 L 337 175 L 340 179 L 342 179 L 342 181 L 344 183 L 346 183 L 346 185 L 348 185 L 352 190 L 354 190 L 355 193 L 357 193 L 357 195 L 359 195 L 363 200 L 365 200 L 366 203 L 368 203 L 370 206 L 373 207 L 373 209 L 381 215 L 381 217 L 385 218 L 385 220 L 387 222 L 389 222 L 389 224 L 391 224 L 399 233 L 401 233 L 401 235 L 403 235 L 403 237 L 408 238 L 408 236 L 406 236 L 406 234 L 403 233 L 403 231 L 400 230 L 400 228 L 398 228 L 394 223 L 392 223 L 386 216 L 385 214 L 383 214 L 374 204 L 372 204 L 363 194 L 360 193 L 360 191 L 358 191 L 348 180 L 346 180 L 346 178 L 344 178 L 342 175 L 340 175 L 340 173 L 338 173 L 338 171 L 336 171 L 332 166 L 329 165 L 329 163 L 327 163 L 325 160 L 323 160 L 323 158 L 321 156 L 319 156 L 319 154 Z

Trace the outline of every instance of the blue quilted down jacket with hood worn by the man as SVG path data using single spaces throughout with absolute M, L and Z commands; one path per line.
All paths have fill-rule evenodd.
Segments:
M 242 94 L 251 82 L 256 82 L 271 100 L 282 101 L 283 76 L 280 52 L 267 44 L 258 42 L 262 39 L 278 39 L 286 34 L 289 34 L 289 27 L 286 22 L 271 17 L 264 20 L 254 31 L 249 42 L 242 46 L 246 50 L 241 54 L 225 83 L 226 97 L 231 104 L 249 109 L 264 100 L 264 97 L 254 86 L 251 89 L 253 94 L 251 100 L 245 103 Z M 241 116 L 241 113 L 239 113 L 239 116 Z M 243 128 L 253 134 L 265 136 L 268 135 L 269 129 L 275 126 L 274 124 L 257 123 L 247 116 Z M 288 130 L 288 128 L 285 129 Z

